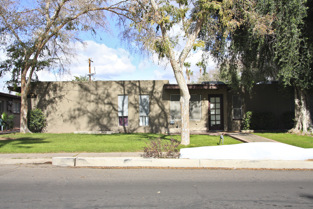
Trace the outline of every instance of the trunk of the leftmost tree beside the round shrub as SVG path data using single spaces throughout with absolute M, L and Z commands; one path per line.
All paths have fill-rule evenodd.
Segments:
M 26 82 L 26 73 L 21 73 L 21 124 L 20 124 L 20 132 L 21 133 L 32 133 L 31 131 L 28 130 L 27 127 L 27 94 L 29 87 L 27 82 Z

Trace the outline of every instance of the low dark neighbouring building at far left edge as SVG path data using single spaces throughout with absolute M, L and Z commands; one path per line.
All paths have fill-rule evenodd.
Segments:
M 16 118 L 13 119 L 13 128 L 20 128 L 21 97 L 0 92 L 0 113 L 2 114 L 3 112 L 14 114 Z

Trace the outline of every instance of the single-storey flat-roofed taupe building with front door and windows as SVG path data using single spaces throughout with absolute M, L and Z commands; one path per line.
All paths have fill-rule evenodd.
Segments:
M 238 131 L 247 111 L 270 111 L 282 129 L 283 112 L 294 110 L 278 84 L 230 89 L 222 82 L 188 85 L 190 128 Z M 36 82 L 28 109 L 40 108 L 49 133 L 119 131 L 165 133 L 181 127 L 180 91 L 177 84 L 157 81 L 60 81 Z

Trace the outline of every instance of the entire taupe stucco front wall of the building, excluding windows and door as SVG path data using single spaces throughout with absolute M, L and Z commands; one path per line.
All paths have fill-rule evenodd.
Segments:
M 33 83 L 31 92 L 37 98 L 28 99 L 28 108 L 43 110 L 49 133 L 74 131 L 119 131 L 165 133 L 165 128 L 181 127 L 181 121 L 171 119 L 171 94 L 179 89 L 163 89 L 167 80 L 159 81 L 66 81 Z M 232 96 L 242 96 L 242 115 L 247 111 L 273 112 L 277 126 L 284 128 L 283 112 L 290 111 L 290 97 L 276 84 L 255 85 L 251 92 L 240 86 L 236 90 L 190 89 L 201 95 L 201 119 L 190 120 L 190 128 L 208 128 L 208 95 L 223 96 L 223 130 L 238 131 L 240 120 L 232 117 Z M 128 126 L 118 125 L 118 95 L 128 95 Z M 149 95 L 149 126 L 139 125 L 139 95 Z M 19 118 L 18 118 L 19 119 Z

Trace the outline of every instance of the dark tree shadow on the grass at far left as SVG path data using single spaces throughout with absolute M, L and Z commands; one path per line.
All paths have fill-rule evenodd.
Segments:
M 43 144 L 43 143 L 51 143 L 50 141 L 45 141 L 45 138 L 31 138 L 31 137 L 23 137 L 23 138 L 8 138 L 0 140 L 0 152 L 1 148 L 5 145 L 12 144 L 11 146 L 17 146 L 21 148 L 32 148 L 36 144 Z M 29 146 L 22 146 L 27 145 Z M 33 145 L 33 146 L 31 146 Z

